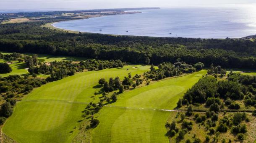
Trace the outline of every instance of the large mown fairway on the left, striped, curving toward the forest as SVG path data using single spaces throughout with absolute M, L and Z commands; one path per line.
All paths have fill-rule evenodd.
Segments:
M 17 103 L 3 133 L 19 143 L 70 143 L 78 133 L 78 128 L 74 127 L 79 127 L 81 111 L 94 100 L 91 98 L 94 91 L 99 90 L 94 87 L 99 78 L 115 75 L 123 78 L 129 72 L 141 74 L 149 69 L 149 66 L 132 67 L 79 73 L 33 90 Z

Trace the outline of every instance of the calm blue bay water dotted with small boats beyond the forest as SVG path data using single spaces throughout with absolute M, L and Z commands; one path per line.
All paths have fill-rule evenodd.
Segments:
M 241 38 L 256 34 L 256 4 L 136 11 L 142 13 L 64 21 L 54 26 L 89 33 L 154 37 Z

